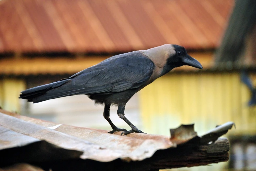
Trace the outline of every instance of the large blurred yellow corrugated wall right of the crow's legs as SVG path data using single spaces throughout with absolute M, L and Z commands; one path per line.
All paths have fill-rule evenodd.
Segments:
M 233 121 L 231 132 L 256 133 L 255 108 L 239 73 L 170 73 L 140 91 L 144 131 L 169 135 L 169 128 L 195 123 L 199 135 Z

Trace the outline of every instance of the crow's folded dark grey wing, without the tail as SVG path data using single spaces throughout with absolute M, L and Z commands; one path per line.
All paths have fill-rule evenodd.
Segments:
M 144 85 L 153 69 L 154 63 L 140 52 L 121 54 L 71 76 L 69 83 L 56 91 L 59 94 L 122 92 Z

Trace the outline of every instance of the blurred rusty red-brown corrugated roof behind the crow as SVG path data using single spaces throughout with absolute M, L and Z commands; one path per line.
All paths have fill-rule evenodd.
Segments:
M 0 53 L 215 48 L 234 0 L 2 0 Z

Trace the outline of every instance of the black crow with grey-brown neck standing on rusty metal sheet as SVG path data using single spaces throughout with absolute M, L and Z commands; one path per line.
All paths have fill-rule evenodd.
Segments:
M 167 74 L 173 68 L 183 65 L 203 69 L 201 63 L 187 54 L 183 46 L 164 44 L 147 50 L 137 50 L 112 56 L 102 62 L 80 71 L 69 78 L 33 87 L 21 92 L 19 98 L 38 103 L 59 97 L 85 94 L 95 104 L 104 105 L 103 116 L 112 131 L 144 133 L 125 117 L 128 100 L 155 79 Z M 131 130 L 116 127 L 110 120 L 110 106 L 117 107 L 118 116 Z

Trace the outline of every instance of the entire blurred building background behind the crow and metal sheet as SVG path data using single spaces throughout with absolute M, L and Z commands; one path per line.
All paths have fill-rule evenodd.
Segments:
M 62 124 L 110 129 L 103 106 L 85 95 L 37 104 L 18 96 L 116 54 L 179 44 L 204 69 L 185 66 L 158 78 L 128 102 L 127 118 L 147 133 L 163 135 L 180 124 L 195 123 L 200 135 L 233 121 L 230 161 L 203 169 L 254 170 L 255 20 L 254 0 L 1 0 L 0 106 Z M 117 109 L 110 110 L 115 125 L 129 129 Z

